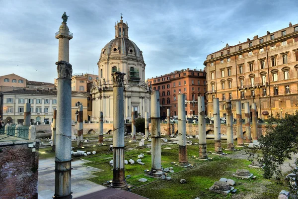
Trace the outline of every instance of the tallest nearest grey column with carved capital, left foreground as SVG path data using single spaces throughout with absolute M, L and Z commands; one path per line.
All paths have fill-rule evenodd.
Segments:
M 55 198 L 71 199 L 72 174 L 72 65 L 56 62 L 58 72 Z

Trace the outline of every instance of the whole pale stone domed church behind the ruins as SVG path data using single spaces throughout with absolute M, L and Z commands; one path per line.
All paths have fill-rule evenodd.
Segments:
M 103 111 L 105 122 L 113 121 L 112 73 L 120 71 L 124 76 L 124 119 L 131 119 L 132 109 L 137 117 L 145 117 L 151 104 L 151 89 L 145 82 L 143 52 L 128 38 L 128 25 L 120 22 L 115 25 L 115 39 L 102 48 L 98 65 L 98 80 L 92 84 L 91 120 L 99 121 L 99 111 Z

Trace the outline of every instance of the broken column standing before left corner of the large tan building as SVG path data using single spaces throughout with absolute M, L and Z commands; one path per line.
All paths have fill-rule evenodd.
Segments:
M 198 117 L 199 117 L 199 159 L 208 159 L 205 121 L 205 100 L 204 96 L 198 97 Z

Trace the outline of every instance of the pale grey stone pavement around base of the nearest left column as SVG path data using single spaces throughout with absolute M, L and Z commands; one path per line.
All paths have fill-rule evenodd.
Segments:
M 72 192 L 73 198 L 107 189 L 87 179 L 95 177 L 94 172 L 103 170 L 84 166 L 88 161 L 75 159 L 72 161 Z M 55 192 L 55 157 L 39 160 L 38 199 L 52 199 Z

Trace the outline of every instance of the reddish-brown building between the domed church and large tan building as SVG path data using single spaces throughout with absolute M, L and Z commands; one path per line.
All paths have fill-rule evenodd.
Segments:
M 171 116 L 178 115 L 178 94 L 185 95 L 185 112 L 188 117 L 198 115 L 198 96 L 206 92 L 206 72 L 204 70 L 186 69 L 170 74 L 156 76 L 147 80 L 153 90 L 159 90 L 160 116 L 166 116 L 170 109 Z

